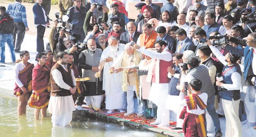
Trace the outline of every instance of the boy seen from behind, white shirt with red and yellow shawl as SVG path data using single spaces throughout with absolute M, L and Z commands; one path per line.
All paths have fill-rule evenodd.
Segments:
M 193 79 L 187 87 L 188 96 L 184 97 L 184 89 L 181 90 L 181 106 L 184 106 L 180 119 L 184 119 L 183 133 L 185 137 L 206 137 L 206 125 L 204 109 L 208 95 L 200 91 L 202 82 L 199 79 Z

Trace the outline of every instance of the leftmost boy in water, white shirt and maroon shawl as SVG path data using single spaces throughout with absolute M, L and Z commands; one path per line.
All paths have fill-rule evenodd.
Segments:
M 14 66 L 14 95 L 18 98 L 18 115 L 25 115 L 28 99 L 32 91 L 32 69 L 34 65 L 28 62 L 28 60 L 30 59 L 28 51 L 21 51 L 20 58 L 22 59 L 22 61 L 15 64 Z

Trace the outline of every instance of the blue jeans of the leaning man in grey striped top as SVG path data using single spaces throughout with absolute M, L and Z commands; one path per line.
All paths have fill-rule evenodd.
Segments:
M 206 110 L 208 111 L 211 119 L 213 120 L 213 124 L 215 126 L 215 132 L 221 131 L 221 124 L 219 123 L 219 116 L 214 108 L 215 96 L 211 96 L 207 99 Z M 206 124 L 207 125 L 207 124 Z

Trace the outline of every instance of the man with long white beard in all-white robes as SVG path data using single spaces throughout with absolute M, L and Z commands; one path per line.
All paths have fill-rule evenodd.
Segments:
M 110 36 L 108 38 L 108 47 L 102 52 L 98 72 L 95 74 L 95 77 L 99 78 L 104 67 L 102 89 L 106 92 L 106 109 L 109 114 L 115 109 L 118 109 L 119 112 L 124 112 L 124 92 L 120 81 L 122 74 L 113 73 L 110 69 L 113 61 L 121 55 L 122 51 L 124 51 L 124 44 L 119 43 L 116 37 Z

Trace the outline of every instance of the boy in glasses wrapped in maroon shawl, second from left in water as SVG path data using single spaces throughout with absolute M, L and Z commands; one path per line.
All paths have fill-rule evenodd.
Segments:
M 32 72 L 33 93 L 28 101 L 28 105 L 35 108 L 35 119 L 39 119 L 40 110 L 41 116 L 46 117 L 46 110 L 50 99 L 50 68 L 45 65 L 46 58 L 45 53 L 38 53 L 35 57 L 38 63 Z

